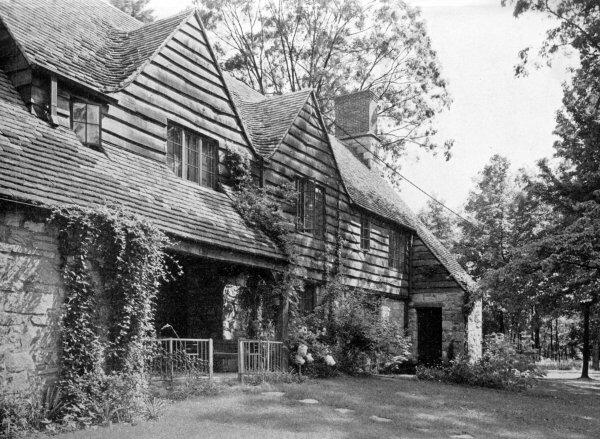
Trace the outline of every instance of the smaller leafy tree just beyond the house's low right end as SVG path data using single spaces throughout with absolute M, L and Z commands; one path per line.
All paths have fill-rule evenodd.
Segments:
M 460 223 L 454 251 L 469 273 L 482 281 L 484 330 L 518 338 L 531 325 L 539 345 L 544 308 L 532 293 L 538 284 L 506 282 L 499 271 L 511 261 L 515 249 L 540 236 L 548 222 L 548 206 L 529 187 L 525 171 L 514 175 L 509 161 L 494 155 L 469 194 L 464 209 L 472 220 Z

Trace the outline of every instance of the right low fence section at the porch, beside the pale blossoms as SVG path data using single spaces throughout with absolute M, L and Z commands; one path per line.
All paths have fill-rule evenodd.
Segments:
M 287 368 L 285 347 L 280 341 L 239 340 L 238 376 L 264 372 L 283 372 Z

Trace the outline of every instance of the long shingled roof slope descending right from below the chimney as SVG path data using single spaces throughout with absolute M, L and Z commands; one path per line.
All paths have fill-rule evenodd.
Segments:
M 391 184 L 376 171 L 365 166 L 336 137 L 330 135 L 329 140 L 350 199 L 363 209 L 414 230 L 458 284 L 474 291 L 475 283 L 471 276 L 412 213 Z

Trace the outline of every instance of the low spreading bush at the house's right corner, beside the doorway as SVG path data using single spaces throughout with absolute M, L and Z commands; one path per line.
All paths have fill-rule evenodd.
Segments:
M 492 334 L 485 339 L 485 351 L 479 361 L 457 358 L 441 366 L 417 366 L 416 375 L 422 380 L 525 390 L 544 372 L 531 361 L 530 355 L 518 352 L 503 334 Z

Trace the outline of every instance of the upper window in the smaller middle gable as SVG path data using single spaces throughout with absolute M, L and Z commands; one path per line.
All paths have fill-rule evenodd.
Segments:
M 325 188 L 311 180 L 296 180 L 296 225 L 299 231 L 322 238 L 325 234 Z

